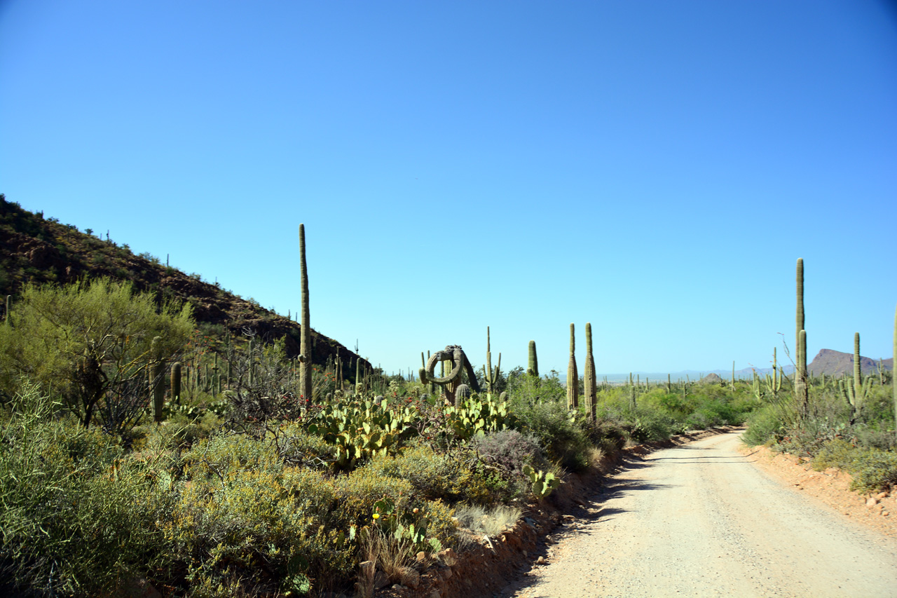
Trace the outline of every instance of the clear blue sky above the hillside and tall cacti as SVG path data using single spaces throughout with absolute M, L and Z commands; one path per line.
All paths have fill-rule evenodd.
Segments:
M 0 2 L 0 192 L 387 371 L 892 354 L 897 10 L 872 0 Z M 784 337 L 779 336 L 784 333 Z

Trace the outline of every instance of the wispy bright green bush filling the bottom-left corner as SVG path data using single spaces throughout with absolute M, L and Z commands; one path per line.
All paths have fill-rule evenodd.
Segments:
M 33 595 L 97 595 L 164 560 L 168 504 L 111 437 L 26 385 L 0 427 L 0 585 Z

